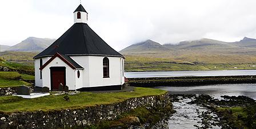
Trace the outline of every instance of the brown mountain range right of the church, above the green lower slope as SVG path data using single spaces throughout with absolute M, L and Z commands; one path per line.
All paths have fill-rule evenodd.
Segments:
M 144 44 L 150 45 L 145 41 L 130 45 L 120 52 L 125 56 L 188 61 L 194 64 L 256 63 L 256 39 L 243 38 L 234 43 L 213 39 L 181 41 L 178 44 L 157 43 L 157 47 L 153 45 L 154 49 Z

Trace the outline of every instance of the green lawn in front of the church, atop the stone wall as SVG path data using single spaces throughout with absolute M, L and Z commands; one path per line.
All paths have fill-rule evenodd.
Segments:
M 125 99 L 142 97 L 148 95 L 161 95 L 166 93 L 165 90 L 151 88 L 135 88 L 133 92 L 120 93 L 90 93 L 82 92 L 76 95 L 69 95 L 70 101 L 65 101 L 65 95 L 46 96 L 34 99 L 24 99 L 15 96 L 0 97 L 0 111 L 49 111 L 72 109 L 85 106 L 101 105 L 105 103 L 114 103 L 124 101 Z

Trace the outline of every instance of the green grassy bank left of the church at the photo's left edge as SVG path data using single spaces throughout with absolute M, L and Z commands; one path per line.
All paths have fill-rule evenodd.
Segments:
M 0 88 L 30 85 L 23 80 L 34 80 L 34 76 L 19 74 L 18 72 L 0 72 Z

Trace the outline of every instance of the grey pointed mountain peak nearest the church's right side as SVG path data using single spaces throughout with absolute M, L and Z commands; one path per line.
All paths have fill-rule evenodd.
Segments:
M 152 51 L 168 51 L 169 49 L 166 47 L 163 47 L 163 45 L 152 41 L 152 40 L 146 40 L 142 41 L 141 43 L 130 45 L 129 47 L 126 47 L 125 49 L 122 49 L 120 51 L 121 53 L 137 53 L 137 52 L 152 52 Z

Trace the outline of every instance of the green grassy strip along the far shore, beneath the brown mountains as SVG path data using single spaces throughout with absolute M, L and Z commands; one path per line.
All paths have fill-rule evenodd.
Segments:
M 254 66 L 255 65 L 255 66 Z M 126 56 L 126 72 L 138 71 L 172 71 L 172 70 L 237 70 L 256 69 L 256 63 L 197 63 L 168 58 Z

